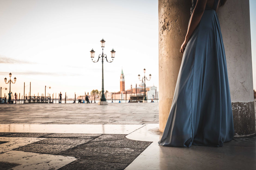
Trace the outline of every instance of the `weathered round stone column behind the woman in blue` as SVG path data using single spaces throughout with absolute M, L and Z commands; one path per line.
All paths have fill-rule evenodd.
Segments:
M 159 130 L 172 104 L 191 2 L 159 0 Z M 227 59 L 235 136 L 255 133 L 249 0 L 227 1 L 218 11 Z

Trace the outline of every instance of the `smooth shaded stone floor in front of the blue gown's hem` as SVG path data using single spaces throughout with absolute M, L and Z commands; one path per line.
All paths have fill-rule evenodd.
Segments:
M 256 169 L 255 147 L 164 147 L 153 142 L 126 169 Z

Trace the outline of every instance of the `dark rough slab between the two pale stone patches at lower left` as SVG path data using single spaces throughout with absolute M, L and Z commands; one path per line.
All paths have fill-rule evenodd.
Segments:
M 57 155 L 58 153 L 63 152 L 65 150 L 69 150 L 73 147 L 76 147 L 76 145 L 29 144 L 23 147 L 19 147 L 18 149 L 15 150 Z

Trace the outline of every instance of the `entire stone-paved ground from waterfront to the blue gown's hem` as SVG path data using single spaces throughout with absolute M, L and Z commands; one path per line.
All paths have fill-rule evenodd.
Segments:
M 0 167 L 256 169 L 256 136 L 163 147 L 158 119 L 158 103 L 1 105 Z

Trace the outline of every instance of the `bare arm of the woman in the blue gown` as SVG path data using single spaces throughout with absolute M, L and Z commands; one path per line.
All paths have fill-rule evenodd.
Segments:
M 191 15 L 190 23 L 188 25 L 188 31 L 187 31 L 187 35 L 185 37 L 185 41 L 181 45 L 181 49 L 180 49 L 181 53 L 184 53 L 185 47 L 187 46 L 187 43 L 188 43 L 188 40 L 190 39 L 191 35 L 195 31 L 197 25 L 199 24 L 199 22 L 203 16 L 203 12 L 205 11 L 206 3 L 207 3 L 207 0 L 197 0 L 195 9 Z

